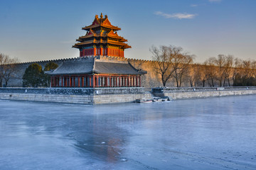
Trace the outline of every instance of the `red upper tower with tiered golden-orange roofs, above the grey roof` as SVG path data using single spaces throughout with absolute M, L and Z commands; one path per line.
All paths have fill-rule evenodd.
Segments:
M 117 35 L 117 30 L 121 28 L 112 26 L 107 15 L 103 18 L 102 13 L 100 18 L 95 16 L 92 25 L 85 26 L 82 30 L 87 30 L 87 33 L 78 38 L 78 42 L 73 45 L 80 50 L 80 57 L 96 55 L 124 57 L 124 49 L 131 48 L 125 43 L 127 40 Z

